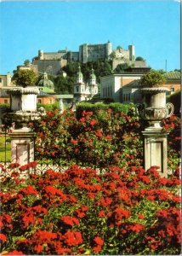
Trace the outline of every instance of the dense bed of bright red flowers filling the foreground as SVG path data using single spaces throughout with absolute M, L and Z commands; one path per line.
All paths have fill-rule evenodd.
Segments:
M 2 254 L 180 253 L 179 171 L 71 166 L 26 181 L 17 173 L 2 181 Z

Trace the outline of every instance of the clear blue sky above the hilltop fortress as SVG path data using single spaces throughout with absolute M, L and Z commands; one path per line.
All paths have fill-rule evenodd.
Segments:
M 178 1 L 56 1 L 0 3 L 0 73 L 13 73 L 38 49 L 78 51 L 80 44 L 135 46 L 147 65 L 180 68 Z

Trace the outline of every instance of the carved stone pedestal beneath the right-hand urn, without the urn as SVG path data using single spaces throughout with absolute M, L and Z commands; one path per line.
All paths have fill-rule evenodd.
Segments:
M 161 128 L 148 128 L 142 133 L 145 137 L 145 170 L 148 170 L 151 166 L 159 166 L 158 172 L 160 172 L 162 177 L 167 177 L 167 133 L 163 133 Z

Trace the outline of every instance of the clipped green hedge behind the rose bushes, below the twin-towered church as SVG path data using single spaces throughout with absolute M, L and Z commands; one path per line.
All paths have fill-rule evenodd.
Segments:
M 82 102 L 77 104 L 76 109 L 76 116 L 77 119 L 80 119 L 82 117 L 82 112 L 93 112 L 94 114 L 98 114 L 100 110 L 106 111 L 109 108 L 112 109 L 115 113 L 128 113 L 129 109 L 131 108 L 131 104 L 122 104 L 119 102 L 116 103 L 110 103 L 110 104 L 104 104 L 104 103 L 88 103 L 88 102 Z

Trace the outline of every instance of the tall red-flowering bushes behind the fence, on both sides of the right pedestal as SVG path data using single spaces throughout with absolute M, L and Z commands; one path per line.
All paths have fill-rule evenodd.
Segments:
M 174 115 L 163 121 L 168 132 L 168 168 L 179 166 L 180 119 Z M 35 121 L 37 159 L 77 164 L 93 168 L 117 165 L 142 166 L 144 123 L 131 108 L 128 114 L 111 109 L 97 115 L 83 111 L 81 119 L 65 111 L 48 112 Z

